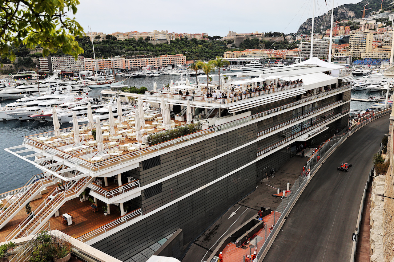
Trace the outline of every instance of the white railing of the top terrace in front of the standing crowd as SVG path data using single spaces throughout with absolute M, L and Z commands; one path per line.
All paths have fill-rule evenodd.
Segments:
M 292 85 L 286 85 L 283 87 L 277 87 L 277 88 L 272 88 L 272 89 L 267 89 L 267 90 L 263 90 L 260 92 L 251 92 L 249 94 L 242 94 L 240 96 L 236 96 L 233 98 L 207 98 L 205 96 L 197 96 L 197 95 L 179 95 L 179 94 L 169 94 L 169 93 L 165 93 L 165 92 L 160 92 L 160 90 L 157 90 L 156 92 L 153 91 L 146 91 L 145 94 L 147 96 L 156 96 L 157 98 L 171 98 L 171 99 L 180 99 L 180 100 L 190 100 L 190 101 L 208 101 L 208 102 L 212 102 L 212 103 L 221 103 L 221 104 L 229 104 L 232 102 L 235 102 L 236 100 L 245 100 L 245 99 L 249 99 L 249 98 L 254 98 L 257 96 L 264 96 L 266 94 L 272 94 L 275 92 L 281 92 L 284 90 L 289 90 L 289 89 L 293 89 L 296 87 L 302 87 L 304 85 L 304 83 L 296 83 L 296 84 L 292 84 Z M 176 86 L 174 87 L 176 88 Z M 164 91 L 168 91 L 168 89 L 163 89 Z

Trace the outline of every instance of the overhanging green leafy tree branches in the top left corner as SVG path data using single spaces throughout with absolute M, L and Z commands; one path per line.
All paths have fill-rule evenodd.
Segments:
M 0 2 L 0 55 L 15 60 L 9 43 L 25 44 L 27 48 L 40 45 L 43 56 L 61 50 L 78 58 L 84 50 L 75 41 L 84 29 L 68 16 L 75 15 L 78 0 L 2 0 Z

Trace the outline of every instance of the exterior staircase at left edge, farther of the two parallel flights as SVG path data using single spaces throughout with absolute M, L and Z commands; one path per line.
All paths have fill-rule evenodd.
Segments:
M 7 208 L 0 214 L 0 229 L 4 227 L 18 212 L 24 208 L 46 186 L 54 185 L 56 177 L 44 177 L 44 174 L 35 175 L 15 195 L 17 199 L 4 204 Z M 32 183 L 32 185 L 30 185 Z M 30 185 L 30 186 L 28 186 Z

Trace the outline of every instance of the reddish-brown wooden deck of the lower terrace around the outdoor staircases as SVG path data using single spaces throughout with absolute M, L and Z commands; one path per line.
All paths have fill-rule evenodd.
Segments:
M 50 192 L 54 186 L 48 187 Z M 43 198 L 48 194 L 43 194 Z M 30 202 L 32 210 L 43 200 L 43 198 L 36 199 Z M 99 212 L 93 212 L 90 210 L 90 202 L 84 201 L 81 203 L 79 197 L 67 201 L 60 209 L 59 214 L 70 213 L 74 222 L 71 225 L 64 225 L 61 223 L 61 216 L 52 216 L 49 219 L 51 229 L 58 229 L 59 231 L 65 232 L 73 237 L 78 237 L 87 232 L 90 232 L 98 227 L 101 227 L 112 220 L 120 218 L 120 213 L 115 205 L 110 205 L 111 214 L 104 216 L 104 212 L 101 207 L 106 204 L 98 201 Z M 6 236 L 26 217 L 26 211 L 23 208 L 19 211 L 14 218 L 7 223 L 2 229 L 0 229 L 0 242 L 6 241 Z

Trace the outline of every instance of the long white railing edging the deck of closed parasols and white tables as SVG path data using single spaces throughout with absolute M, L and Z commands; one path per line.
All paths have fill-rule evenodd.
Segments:
M 156 145 L 152 145 L 147 148 L 144 148 L 144 149 L 140 149 L 138 151 L 126 153 L 124 155 L 120 155 L 117 157 L 111 157 L 109 159 L 105 159 L 105 160 L 98 161 L 95 163 L 92 163 L 90 161 L 82 159 L 81 157 L 77 157 L 77 156 L 72 155 L 70 153 L 63 152 L 57 148 L 53 148 L 51 146 L 42 144 L 41 142 L 32 140 L 31 139 L 32 136 L 24 137 L 24 144 L 30 144 L 35 148 L 40 148 L 43 151 L 45 151 L 46 153 L 48 153 L 50 155 L 56 155 L 56 156 L 64 159 L 65 161 L 71 162 L 72 164 L 81 165 L 81 166 L 84 166 L 85 168 L 88 168 L 90 170 L 95 170 L 95 169 L 104 168 L 105 166 L 110 165 L 110 164 L 115 164 L 115 163 L 119 163 L 119 162 L 122 163 L 122 161 L 127 161 L 129 159 L 134 158 L 134 157 L 142 157 L 143 155 L 146 156 L 149 153 L 160 151 L 160 149 L 162 149 L 162 148 L 167 148 L 168 146 L 175 146 L 178 143 L 181 143 L 184 141 L 190 141 L 191 139 L 194 139 L 197 137 L 201 137 L 201 136 L 208 135 L 208 134 L 211 134 L 214 132 L 218 132 L 218 131 L 221 131 L 224 129 L 235 127 L 237 125 L 241 125 L 246 122 L 258 119 L 260 117 L 267 116 L 269 114 L 273 114 L 273 113 L 280 112 L 280 111 L 283 111 L 286 109 L 290 109 L 290 108 L 295 107 L 297 105 L 302 105 L 302 104 L 308 103 L 308 102 L 316 100 L 318 98 L 323 98 L 325 96 L 330 96 L 330 95 L 338 93 L 338 92 L 343 92 L 347 89 L 349 89 L 349 90 L 351 89 L 350 85 L 346 85 L 346 86 L 343 86 L 343 87 L 340 87 L 337 89 L 329 90 L 327 92 L 321 92 L 319 94 L 301 99 L 301 100 L 296 101 L 294 103 L 283 105 L 281 107 L 277 107 L 275 109 L 264 111 L 262 113 L 254 114 L 253 116 L 247 116 L 245 118 L 240 118 L 238 120 L 234 120 L 234 121 L 231 121 L 231 122 L 228 122 L 225 124 L 217 125 L 215 127 L 204 129 L 204 130 L 201 130 L 201 131 L 198 131 L 198 132 L 195 132 L 195 133 L 183 136 L 183 137 L 178 137 L 178 138 L 166 141 L 166 142 L 162 142 L 160 144 L 156 144 Z M 51 132 L 53 133 L 54 131 L 51 131 Z M 48 133 L 51 133 L 51 132 L 48 132 Z M 45 134 L 47 134 L 47 133 L 45 133 Z

